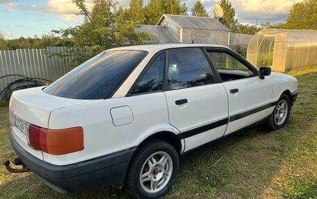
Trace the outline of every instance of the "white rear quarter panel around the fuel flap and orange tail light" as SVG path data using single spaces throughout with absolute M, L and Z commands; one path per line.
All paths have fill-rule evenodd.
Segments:
M 113 107 L 129 106 L 133 122 L 115 126 Z M 65 107 L 51 112 L 50 129 L 83 127 L 84 149 L 67 155 L 43 153 L 44 161 L 66 165 L 138 146 L 149 135 L 160 131 L 178 131 L 170 126 L 168 107 L 163 92 L 111 98 L 86 105 Z

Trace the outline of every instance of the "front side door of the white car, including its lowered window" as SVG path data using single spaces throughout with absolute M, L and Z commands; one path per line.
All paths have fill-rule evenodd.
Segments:
M 229 124 L 225 135 L 266 118 L 272 104 L 272 85 L 236 53 L 206 49 L 229 98 Z

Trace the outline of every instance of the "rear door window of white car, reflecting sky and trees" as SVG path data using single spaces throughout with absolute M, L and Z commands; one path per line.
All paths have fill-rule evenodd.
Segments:
M 168 51 L 167 78 L 170 89 L 216 83 L 209 62 L 201 49 Z

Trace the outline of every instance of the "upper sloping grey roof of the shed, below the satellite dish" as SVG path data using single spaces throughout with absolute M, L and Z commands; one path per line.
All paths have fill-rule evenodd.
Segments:
M 168 19 L 177 26 L 177 28 L 197 28 L 207 29 L 213 31 L 230 31 L 229 28 L 221 24 L 217 19 L 211 17 L 193 17 L 186 15 L 163 15 L 158 21 L 157 25 L 160 26 L 164 19 Z

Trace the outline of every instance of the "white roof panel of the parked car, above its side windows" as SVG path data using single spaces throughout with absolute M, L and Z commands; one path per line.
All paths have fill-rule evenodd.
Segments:
M 216 44 L 147 44 L 147 45 L 136 45 L 136 46 L 122 46 L 111 50 L 138 50 L 138 51 L 149 51 L 157 52 L 164 49 L 176 49 L 176 48 L 188 48 L 188 47 L 217 47 L 217 48 L 226 48 L 228 46 L 216 45 Z

